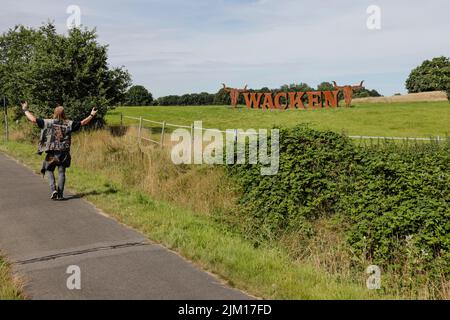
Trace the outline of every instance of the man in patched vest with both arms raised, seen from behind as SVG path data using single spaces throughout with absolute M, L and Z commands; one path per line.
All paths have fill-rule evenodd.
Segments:
M 36 118 L 29 110 L 28 103 L 22 102 L 22 110 L 25 116 L 41 128 L 38 153 L 46 153 L 41 173 L 48 173 L 50 182 L 51 199 L 64 199 L 64 184 L 66 180 L 66 168 L 70 167 L 70 145 L 72 132 L 80 130 L 87 125 L 97 114 L 95 108 L 90 115 L 82 121 L 71 121 L 66 118 L 64 108 L 57 105 L 53 113 L 53 119 Z M 58 168 L 58 187 L 56 187 L 54 171 Z

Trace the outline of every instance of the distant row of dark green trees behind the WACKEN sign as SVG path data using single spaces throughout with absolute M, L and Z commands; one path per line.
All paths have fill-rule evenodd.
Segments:
M 249 89 L 249 92 L 289 92 L 289 91 L 326 91 L 334 90 L 333 85 L 330 82 L 322 82 L 317 88 L 310 87 L 306 83 L 283 85 L 280 88 L 269 89 L 267 87 L 261 89 Z M 342 94 L 342 93 L 341 93 Z M 354 97 L 379 97 L 380 94 L 376 90 L 368 90 L 362 88 L 355 91 Z M 342 98 L 342 97 L 341 97 Z M 306 97 L 305 97 L 306 99 Z M 244 104 L 244 97 L 239 97 L 240 104 Z M 148 106 L 148 105 L 160 105 L 160 106 L 196 106 L 196 105 L 228 105 L 230 104 L 230 94 L 221 88 L 217 93 L 191 93 L 184 95 L 169 95 L 163 96 L 156 100 L 152 99 L 151 93 L 148 92 L 143 86 L 133 86 L 126 94 L 125 105 L 128 106 Z

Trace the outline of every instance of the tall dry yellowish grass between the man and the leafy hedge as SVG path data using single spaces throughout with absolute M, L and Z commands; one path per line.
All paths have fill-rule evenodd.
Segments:
M 144 191 L 209 215 L 232 210 L 237 194 L 225 172 L 212 166 L 173 165 L 169 149 L 136 142 L 136 129 L 124 136 L 107 130 L 75 136 L 73 160 L 77 165 L 107 175 L 126 188 Z

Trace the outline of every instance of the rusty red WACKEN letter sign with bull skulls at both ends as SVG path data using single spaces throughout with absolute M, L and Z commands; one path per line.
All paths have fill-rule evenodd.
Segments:
M 247 85 L 243 89 L 229 88 L 224 83 L 223 89 L 230 93 L 231 105 L 236 107 L 239 95 L 244 96 L 247 108 L 255 109 L 320 109 L 339 107 L 339 91 L 344 94 L 345 106 L 350 107 L 354 89 L 363 88 L 363 81 L 355 86 L 338 86 L 333 81 L 335 90 L 308 92 L 249 92 Z M 305 101 L 307 100 L 307 101 Z M 285 103 L 282 103 L 284 101 Z M 305 102 L 306 106 L 305 106 Z

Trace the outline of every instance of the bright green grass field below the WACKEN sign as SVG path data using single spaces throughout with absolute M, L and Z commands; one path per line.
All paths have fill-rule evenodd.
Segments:
M 205 128 L 239 129 L 294 126 L 308 123 L 317 129 L 348 135 L 430 137 L 450 135 L 450 103 L 367 103 L 351 108 L 320 110 L 254 110 L 229 106 L 119 107 L 107 115 L 109 124 L 120 123 L 120 114 L 173 124 L 203 121 Z M 136 121 L 125 119 L 126 124 Z

